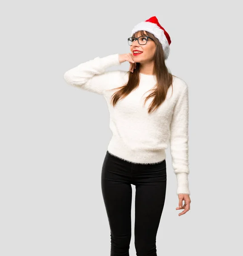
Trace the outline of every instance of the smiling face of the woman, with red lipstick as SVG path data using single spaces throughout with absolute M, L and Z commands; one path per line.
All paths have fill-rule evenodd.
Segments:
M 137 35 L 137 37 L 141 36 L 141 33 Z M 152 61 L 154 57 L 156 49 L 156 44 L 152 39 L 148 39 L 147 44 L 140 45 L 138 44 L 138 41 L 132 42 L 132 45 L 130 46 L 130 51 L 132 53 L 132 58 L 134 59 L 135 62 L 139 63 L 146 63 L 148 61 Z M 135 54 L 134 51 L 140 51 L 142 53 L 140 54 Z

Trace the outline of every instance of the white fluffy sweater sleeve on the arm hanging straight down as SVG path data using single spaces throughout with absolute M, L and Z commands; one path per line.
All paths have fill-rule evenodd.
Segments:
M 172 167 L 177 176 L 177 195 L 180 193 L 190 195 L 189 190 L 189 95 L 188 85 L 180 92 L 174 106 L 174 113 L 170 125 L 170 151 Z

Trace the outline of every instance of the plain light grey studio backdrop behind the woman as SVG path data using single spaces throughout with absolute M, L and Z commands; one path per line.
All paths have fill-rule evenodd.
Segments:
M 227 4 L 226 4 L 227 3 Z M 1 8 L 0 255 L 109 256 L 100 175 L 111 139 L 105 99 L 63 74 L 130 52 L 139 22 L 171 36 L 166 65 L 189 85 L 191 210 L 178 216 L 166 150 L 158 256 L 240 255 L 242 12 L 238 1 L 11 1 Z M 129 69 L 125 62 L 120 68 Z M 134 196 L 132 185 L 132 240 Z M 241 238 L 241 239 L 240 239 Z

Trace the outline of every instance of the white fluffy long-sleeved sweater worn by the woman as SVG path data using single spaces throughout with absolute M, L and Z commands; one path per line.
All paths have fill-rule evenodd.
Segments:
M 111 106 L 110 97 L 128 81 L 129 73 L 123 70 L 105 71 L 113 65 L 120 65 L 119 54 L 94 58 L 79 64 L 64 74 L 65 81 L 83 90 L 105 97 L 110 112 L 112 138 L 108 151 L 132 163 L 157 163 L 166 159 L 165 149 L 170 143 L 172 167 L 177 175 L 177 195 L 189 194 L 188 156 L 188 85 L 173 76 L 166 100 L 156 111 L 148 113 L 152 98 L 143 106 L 144 99 L 156 84 L 156 76 L 140 73 L 136 90 Z

